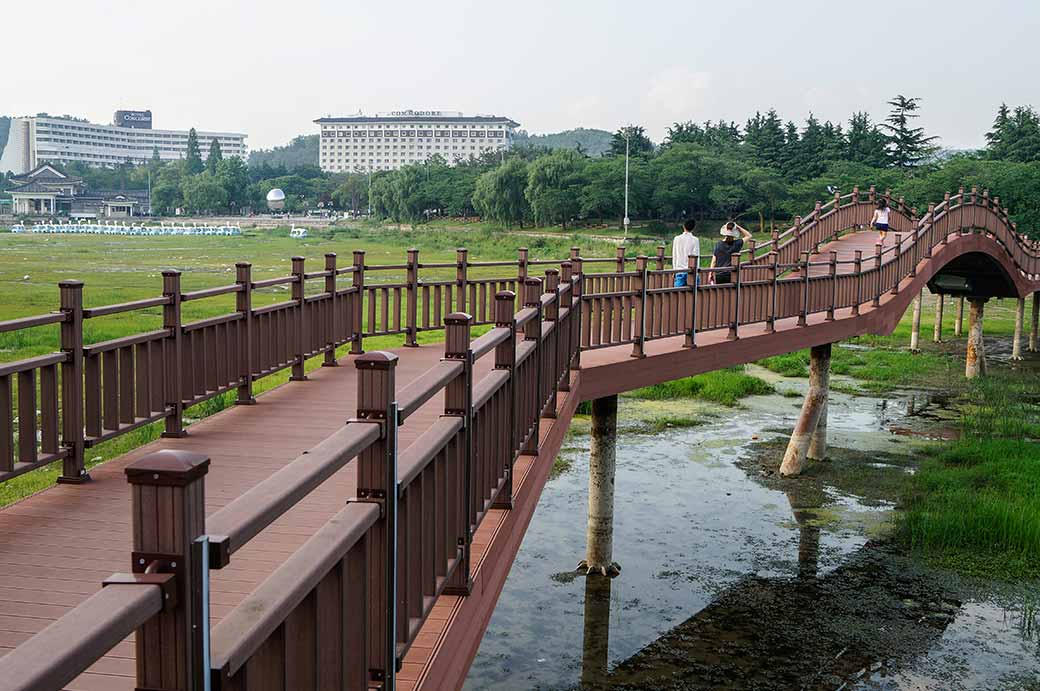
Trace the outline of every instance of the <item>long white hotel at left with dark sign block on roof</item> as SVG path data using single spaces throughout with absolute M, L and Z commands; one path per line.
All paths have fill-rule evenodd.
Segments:
M 184 158 L 188 133 L 152 129 L 151 110 L 118 110 L 112 125 L 95 125 L 62 118 L 12 118 L 0 173 L 23 175 L 41 163 L 90 165 L 147 163 L 158 150 L 162 160 Z M 245 134 L 197 131 L 203 157 L 216 139 L 226 158 L 245 158 Z

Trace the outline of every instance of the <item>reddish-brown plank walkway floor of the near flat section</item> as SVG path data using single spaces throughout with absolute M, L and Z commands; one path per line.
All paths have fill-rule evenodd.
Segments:
M 408 384 L 443 355 L 443 346 L 396 351 L 398 382 Z M 235 407 L 189 428 L 189 436 L 160 439 L 90 471 L 86 485 L 56 485 L 0 510 L 0 656 L 62 616 L 96 592 L 114 571 L 126 571 L 131 549 L 130 492 L 123 469 L 159 449 L 181 449 L 211 457 L 206 479 L 206 512 L 212 514 L 285 463 L 335 432 L 355 413 L 356 373 L 322 367 L 310 381 L 290 383 L 258 398 L 255 406 Z M 482 369 L 483 365 L 483 369 Z M 487 359 L 477 374 L 490 367 Z M 443 396 L 427 402 L 400 431 L 401 449 L 419 436 L 444 409 Z M 356 464 L 349 463 L 235 555 L 227 568 L 212 571 L 213 623 L 253 591 L 314 531 L 355 494 Z M 518 475 L 520 475 L 518 468 Z M 490 534 L 497 514 L 489 516 Z M 473 568 L 487 541 L 474 540 Z M 428 635 L 413 646 L 398 688 L 413 688 L 444 630 L 454 599 L 442 598 L 431 617 Z M 439 623 L 440 622 L 440 623 Z M 132 639 L 116 646 L 69 689 L 130 691 L 134 688 Z

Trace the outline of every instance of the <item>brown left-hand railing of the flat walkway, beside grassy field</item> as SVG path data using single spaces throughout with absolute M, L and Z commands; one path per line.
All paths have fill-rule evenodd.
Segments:
M 59 482 L 82 482 L 86 450 L 157 421 L 182 435 L 192 406 L 231 391 L 253 403 L 257 380 L 285 369 L 305 379 L 308 359 L 335 365 L 337 349 L 361 353 L 367 337 L 416 344 L 454 311 L 491 325 L 498 292 L 522 293 L 532 267 L 566 261 L 525 249 L 516 260 L 470 261 L 460 249 L 454 262 L 422 263 L 410 250 L 404 263 L 367 264 L 357 251 L 344 266 L 330 253 L 321 271 L 294 257 L 289 275 L 263 279 L 239 262 L 234 283 L 190 291 L 167 271 L 160 296 L 86 308 L 83 284 L 63 281 L 59 311 L 0 323 L 0 342 L 15 347 L 46 341 L 54 334 L 42 330 L 58 325 L 60 349 L 0 363 L 0 482 L 58 460 Z M 144 330 L 106 337 L 111 318 Z

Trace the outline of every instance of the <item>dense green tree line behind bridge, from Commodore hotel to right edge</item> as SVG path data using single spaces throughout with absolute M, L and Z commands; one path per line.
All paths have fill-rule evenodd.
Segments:
M 520 148 L 456 168 L 435 159 L 370 179 L 348 176 L 333 199 L 344 208 L 370 204 L 375 215 L 408 223 L 473 214 L 505 226 L 620 222 L 627 146 L 632 219 L 750 216 L 768 230 L 834 189 L 876 184 L 924 210 L 964 184 L 992 189 L 1023 228 L 1040 230 L 1036 110 L 1002 105 L 985 149 L 952 153 L 916 124 L 920 99 L 901 95 L 888 105 L 880 123 L 855 112 L 847 124 L 810 114 L 799 126 L 772 109 L 743 126 L 675 123 L 659 146 L 633 126 L 618 130 L 601 157 Z

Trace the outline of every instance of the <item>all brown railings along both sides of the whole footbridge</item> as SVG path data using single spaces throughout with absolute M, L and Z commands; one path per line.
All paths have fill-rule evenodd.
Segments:
M 919 221 L 903 205 L 893 208 L 893 225 L 905 223 L 908 232 L 896 233 L 895 245 L 878 248 L 873 258 L 857 253 L 839 260 L 832 253 L 826 262 L 810 261 L 822 244 L 862 225 L 873 197 L 872 190 L 861 202 L 854 191 L 817 205 L 807 222 L 766 244 L 766 253 L 751 247 L 724 285 L 707 285 L 712 271 L 698 263 L 665 270 L 662 251 L 656 268 L 639 257 L 635 271 L 626 271 L 623 249 L 608 259 L 575 252 L 563 262 L 528 261 L 525 252 L 517 262 L 470 262 L 460 251 L 456 281 L 426 284 L 418 280 L 422 264 L 415 252 L 406 264 L 380 267 L 406 271 L 402 284 L 366 284 L 365 273 L 376 267 L 365 266 L 363 253 L 355 253 L 347 268 L 337 268 L 329 255 L 326 270 L 315 274 L 297 258 L 292 276 L 259 282 L 239 264 L 234 285 L 194 292 L 181 292 L 179 275 L 170 272 L 161 298 L 90 310 L 82 308 L 81 284 L 62 284 L 60 312 L 0 324 L 0 331 L 60 324 L 62 344 L 62 353 L 0 366 L 0 463 L 7 463 L 0 479 L 60 458 L 66 479 L 75 481 L 83 445 L 155 419 L 165 419 L 171 435 L 181 434 L 186 405 L 233 388 L 251 402 L 256 377 L 292 367 L 302 378 L 305 358 L 323 353 L 335 364 L 336 347 L 353 343 L 360 352 L 367 335 L 404 333 L 414 343 L 419 330 L 435 328 L 441 309 L 447 313 L 444 357 L 400 390 L 395 356 L 356 358 L 357 417 L 208 518 L 206 458 L 164 451 L 128 466 L 133 572 L 113 574 L 97 594 L 0 659 L 0 688 L 59 689 L 134 631 L 144 688 L 196 689 L 207 680 L 227 689 L 318 688 L 327 681 L 386 688 L 437 597 L 469 592 L 473 532 L 490 509 L 512 507 L 513 464 L 521 454 L 538 453 L 539 420 L 554 414 L 581 350 L 632 344 L 632 355 L 641 356 L 654 338 L 684 335 L 694 348 L 705 330 L 729 329 L 735 338 L 753 323 L 769 329 L 778 318 L 804 322 L 820 312 L 833 318 L 850 307 L 855 315 L 883 292 L 898 291 L 935 247 L 968 232 L 993 240 L 994 251 L 1029 280 L 1040 273 L 1036 245 L 1017 233 L 996 200 L 976 190 L 947 196 Z M 782 260 L 788 255 L 801 260 Z M 616 271 L 586 273 L 583 264 L 594 261 L 615 262 Z M 548 270 L 543 281 L 528 274 L 537 263 L 561 268 Z M 468 267 L 495 265 L 517 265 L 518 274 L 467 277 Z M 683 272 L 688 285 L 672 287 L 673 276 Z M 348 288 L 336 284 L 343 274 L 353 277 Z M 323 279 L 322 293 L 306 295 L 312 278 Z M 275 284 L 291 285 L 292 300 L 254 309 L 252 291 Z M 516 293 L 502 287 L 522 289 L 519 310 Z M 183 302 L 230 293 L 236 295 L 234 314 L 181 323 Z M 161 330 L 83 346 L 83 319 L 154 306 L 163 308 Z M 471 339 L 474 324 L 494 326 Z M 474 362 L 492 353 L 494 368 L 474 381 Z M 21 466 L 10 463 L 11 377 L 19 384 Z M 30 449 L 22 439 L 24 430 L 35 429 L 37 393 L 40 447 Z M 443 415 L 399 452 L 398 427 L 437 395 L 444 399 Z M 211 629 L 210 569 L 226 567 L 352 461 L 357 496 Z

